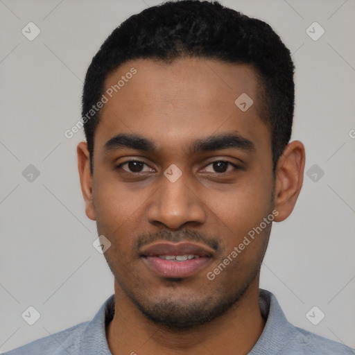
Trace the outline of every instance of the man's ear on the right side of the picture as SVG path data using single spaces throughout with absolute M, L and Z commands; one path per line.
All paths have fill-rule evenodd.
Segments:
M 293 141 L 286 146 L 279 158 L 276 168 L 275 209 L 279 214 L 276 222 L 281 222 L 290 216 L 300 194 L 305 164 L 304 145 Z

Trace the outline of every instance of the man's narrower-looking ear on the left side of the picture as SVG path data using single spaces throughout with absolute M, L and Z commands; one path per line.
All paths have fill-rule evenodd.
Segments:
M 81 191 L 85 201 L 85 213 L 88 218 L 96 220 L 94 203 L 92 200 L 92 173 L 90 172 L 90 155 L 86 141 L 81 141 L 76 148 L 78 153 L 78 170 Z

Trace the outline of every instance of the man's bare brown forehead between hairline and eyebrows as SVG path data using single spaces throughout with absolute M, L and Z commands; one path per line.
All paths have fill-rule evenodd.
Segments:
M 250 140 L 268 137 L 259 92 L 257 74 L 247 64 L 131 60 L 105 80 L 107 103 L 97 138 L 105 144 L 120 132 L 134 132 L 176 146 L 220 132 L 236 131 Z

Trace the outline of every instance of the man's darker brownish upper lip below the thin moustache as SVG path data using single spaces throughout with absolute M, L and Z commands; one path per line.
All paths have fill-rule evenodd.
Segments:
M 214 254 L 214 250 L 207 245 L 195 243 L 159 242 L 147 245 L 141 249 L 139 254 L 144 257 L 154 257 L 158 255 L 198 255 L 200 257 L 211 257 Z

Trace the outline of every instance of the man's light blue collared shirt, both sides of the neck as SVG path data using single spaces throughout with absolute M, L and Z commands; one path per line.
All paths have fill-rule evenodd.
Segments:
M 267 320 L 249 355 L 355 354 L 350 347 L 293 326 L 269 291 L 259 290 L 259 304 L 261 314 Z M 3 355 L 112 355 L 107 345 L 105 326 L 113 316 L 114 295 L 105 301 L 90 322 L 35 340 Z M 138 350 L 137 354 L 140 354 Z

